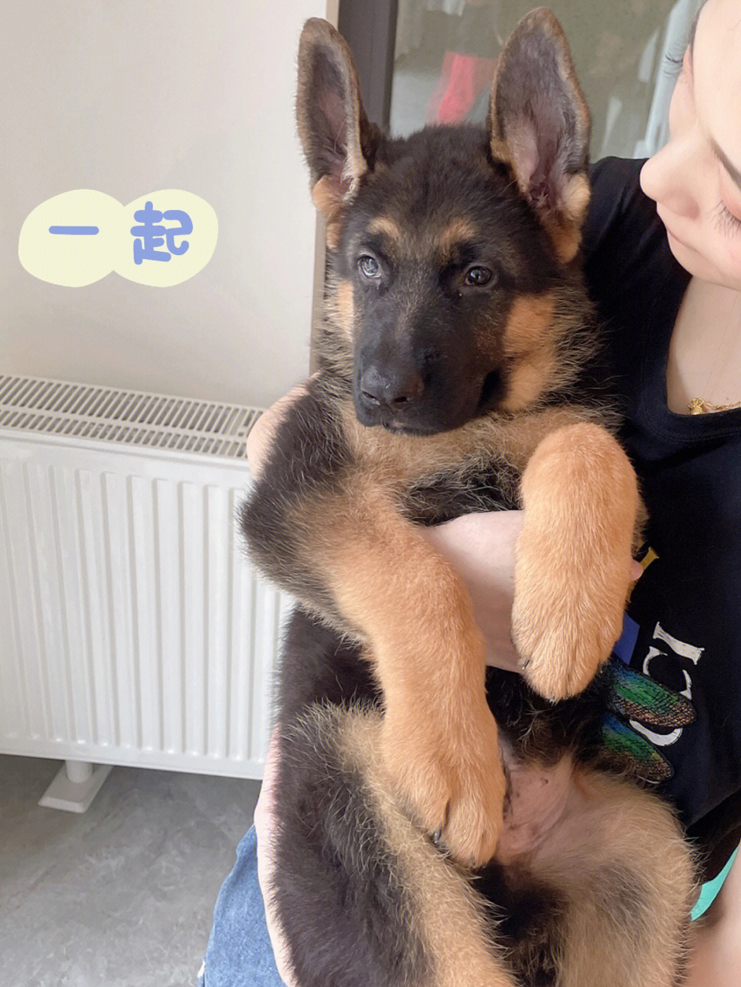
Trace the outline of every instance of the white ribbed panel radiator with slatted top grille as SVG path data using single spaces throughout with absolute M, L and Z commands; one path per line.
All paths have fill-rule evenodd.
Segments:
M 290 600 L 237 531 L 258 415 L 0 376 L 0 752 L 260 777 Z

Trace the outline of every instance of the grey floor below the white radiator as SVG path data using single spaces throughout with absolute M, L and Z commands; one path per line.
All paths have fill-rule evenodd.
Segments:
M 259 783 L 114 768 L 75 815 L 58 768 L 0 756 L 3 987 L 193 987 Z

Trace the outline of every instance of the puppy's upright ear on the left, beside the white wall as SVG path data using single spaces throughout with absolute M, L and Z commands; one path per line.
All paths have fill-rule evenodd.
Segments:
M 342 205 L 371 167 L 381 134 L 363 110 L 346 41 L 319 18 L 307 21 L 301 33 L 296 119 L 312 196 L 328 219 L 332 247 Z

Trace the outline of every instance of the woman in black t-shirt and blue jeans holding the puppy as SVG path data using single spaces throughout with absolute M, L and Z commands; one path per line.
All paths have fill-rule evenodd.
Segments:
M 583 242 L 624 397 L 623 438 L 650 516 L 651 551 L 618 660 L 681 693 L 696 711 L 693 723 L 669 731 L 624 725 L 667 766 L 659 791 L 677 806 L 708 877 L 741 838 L 740 121 L 741 0 L 706 0 L 672 98 L 669 142 L 642 165 L 607 159 L 594 166 Z M 273 406 L 251 434 L 256 471 L 292 398 Z M 521 523 L 517 511 L 476 514 L 428 532 L 469 585 L 492 663 L 512 670 L 518 659 L 509 611 Z M 269 903 L 274 762 L 268 757 L 256 810 L 257 856 L 251 831 L 217 902 L 206 987 L 292 983 L 259 891 Z M 741 863 L 730 867 L 696 925 L 688 987 L 735 987 Z

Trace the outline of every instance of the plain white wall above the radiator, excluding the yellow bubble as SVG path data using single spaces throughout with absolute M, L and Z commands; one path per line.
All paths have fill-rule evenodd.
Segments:
M 0 21 L 0 373 L 264 406 L 307 373 L 316 221 L 293 113 L 296 45 L 336 0 L 23 0 Z M 21 266 L 67 190 L 182 189 L 215 209 L 207 266 L 86 287 Z M 156 208 L 156 205 L 155 205 Z

